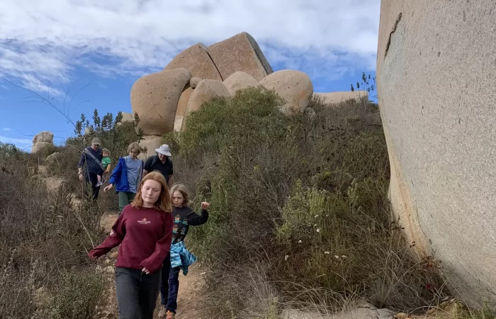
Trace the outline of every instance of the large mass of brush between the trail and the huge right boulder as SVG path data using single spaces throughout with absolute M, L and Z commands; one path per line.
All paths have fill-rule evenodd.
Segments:
M 265 318 L 274 304 L 337 310 L 363 297 L 412 310 L 443 298 L 436 264 L 415 262 L 391 222 L 378 106 L 312 99 L 305 114 L 283 116 L 282 103 L 244 89 L 165 137 L 179 181 L 211 203 L 188 243 L 210 269 L 208 309 Z

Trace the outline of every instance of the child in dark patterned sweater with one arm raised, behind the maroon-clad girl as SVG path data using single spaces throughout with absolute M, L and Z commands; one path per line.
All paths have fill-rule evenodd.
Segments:
M 203 225 L 208 220 L 209 203 L 201 203 L 201 215 L 198 215 L 189 207 L 188 189 L 186 186 L 177 184 L 172 186 L 172 216 L 174 217 L 174 228 L 172 228 L 172 245 L 179 242 L 184 242 L 184 238 L 188 234 L 189 226 Z M 196 257 L 195 257 L 196 258 Z M 181 267 L 171 267 L 169 259 L 164 260 L 164 268 L 162 271 L 162 281 L 160 284 L 160 305 L 159 318 L 174 319 L 176 318 L 177 309 L 177 293 L 179 292 L 179 272 Z M 169 273 L 166 262 L 169 262 Z M 186 274 L 186 272 L 184 272 Z M 167 316 L 167 317 L 166 317 Z

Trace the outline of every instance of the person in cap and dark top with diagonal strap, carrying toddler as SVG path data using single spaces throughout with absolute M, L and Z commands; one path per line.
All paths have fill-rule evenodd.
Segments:
M 86 147 L 82 154 L 79 164 L 77 165 L 77 170 L 79 174 L 79 180 L 86 181 L 86 186 L 89 189 L 89 184 L 91 184 L 92 196 L 91 198 L 96 201 L 98 199 L 98 193 L 100 192 L 100 186 L 98 184 L 97 175 L 103 174 L 103 164 L 101 159 L 103 158 L 103 153 L 100 148 L 101 142 L 99 138 L 94 138 L 91 141 L 91 146 Z M 86 164 L 86 165 L 84 165 Z M 83 171 L 84 167 L 84 171 Z

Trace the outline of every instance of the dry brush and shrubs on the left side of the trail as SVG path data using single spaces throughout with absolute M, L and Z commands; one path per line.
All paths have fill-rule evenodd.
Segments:
M 100 218 L 117 208 L 113 192 L 98 203 L 72 205 L 82 197 L 77 179 L 81 150 L 98 136 L 112 152 L 114 162 L 137 141 L 133 123 L 117 125 L 119 118 L 99 121 L 94 130 L 67 140 L 62 147 L 47 147 L 29 155 L 14 145 L 0 143 L 0 317 L 85 319 L 102 306 L 105 281 L 95 272 L 87 252 L 101 242 Z M 57 152 L 52 160 L 47 155 Z M 48 177 L 62 177 L 57 191 Z

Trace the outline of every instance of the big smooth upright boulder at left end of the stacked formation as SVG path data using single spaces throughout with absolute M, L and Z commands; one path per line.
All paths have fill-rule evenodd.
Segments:
M 140 116 L 137 127 L 146 135 L 162 135 L 174 130 L 179 98 L 190 79 L 191 73 L 183 68 L 137 79 L 131 88 L 131 107 Z

